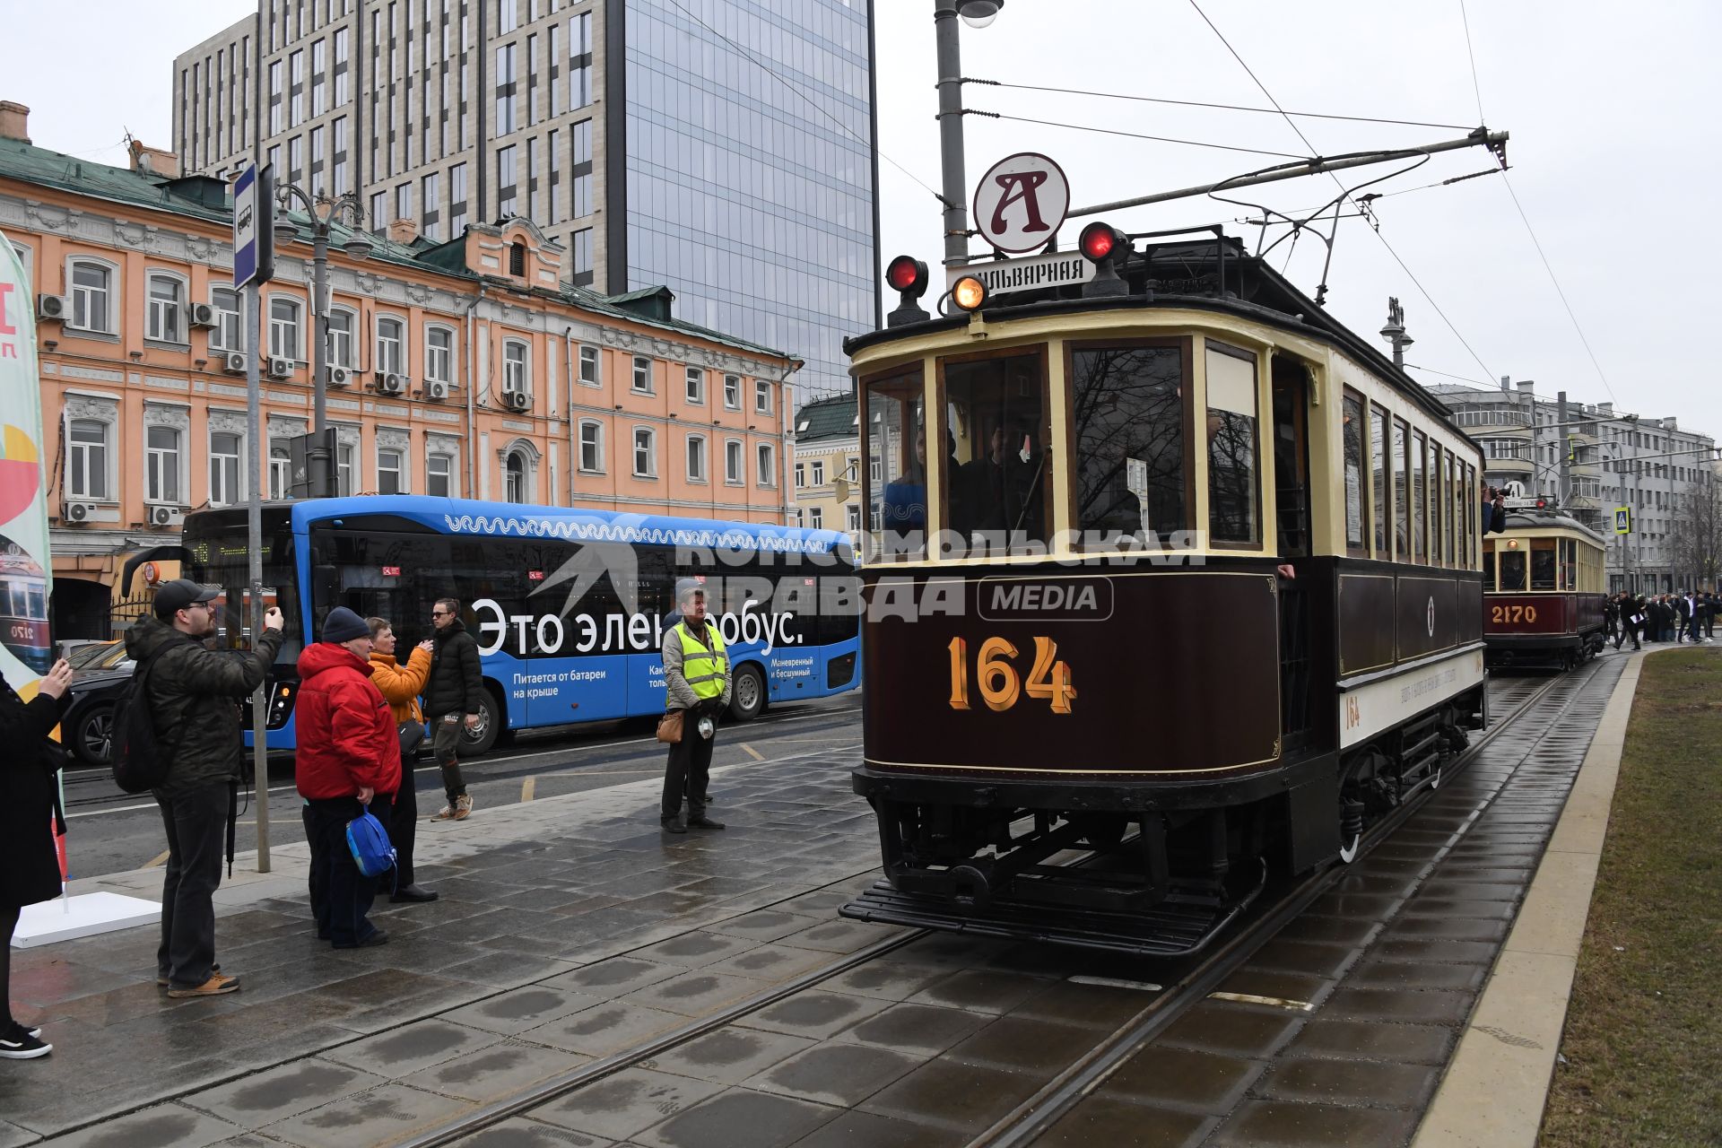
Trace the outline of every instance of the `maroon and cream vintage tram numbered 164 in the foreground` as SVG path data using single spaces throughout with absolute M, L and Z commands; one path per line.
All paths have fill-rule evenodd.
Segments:
M 1477 446 L 1209 232 L 1090 224 L 1088 282 L 951 315 L 899 258 L 847 341 L 883 880 L 844 916 L 1192 952 L 1483 725 Z

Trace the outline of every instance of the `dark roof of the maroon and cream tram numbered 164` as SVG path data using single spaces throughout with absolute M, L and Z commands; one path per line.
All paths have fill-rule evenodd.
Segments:
M 1190 231 L 1209 229 L 1192 227 Z M 1080 258 L 1076 251 L 1071 251 L 1071 255 Z M 1448 423 L 1455 432 L 1464 434 L 1453 423 L 1452 411 L 1445 403 L 1436 399 L 1429 391 L 1424 391 L 1422 384 L 1402 368 L 1395 367 L 1393 360 L 1378 351 L 1369 339 L 1341 324 L 1312 298 L 1298 291 L 1290 279 L 1276 272 L 1266 260 L 1245 253 L 1243 243 L 1233 236 L 1193 241 L 1178 239 L 1143 246 L 1131 244 L 1131 255 L 1118 268 L 1118 274 L 1128 284 L 1130 294 L 1083 296 L 1080 286 L 1016 291 L 992 296 L 980 313 L 987 322 L 1080 315 L 1085 312 L 1173 308 L 1235 315 L 1307 339 L 1321 339 L 1343 349 L 1383 382 L 1419 403 L 1429 415 Z M 1221 275 L 1224 275 L 1224 294 L 1219 293 Z M 969 315 L 964 313 L 949 318 L 935 315 L 923 322 L 883 327 L 844 339 L 844 353 L 854 355 L 864 348 L 944 330 L 956 332 L 968 327 L 968 324 Z

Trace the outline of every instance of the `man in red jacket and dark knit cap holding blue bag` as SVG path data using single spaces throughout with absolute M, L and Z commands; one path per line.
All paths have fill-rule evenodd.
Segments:
M 300 797 L 310 809 L 312 854 L 327 873 L 327 902 L 312 905 L 319 935 L 336 948 L 382 945 L 389 935 L 365 919 L 375 878 L 353 862 L 348 823 L 370 807 L 389 823 L 401 785 L 401 742 L 382 692 L 370 682 L 370 626 L 346 606 L 324 620 L 322 640 L 300 654 Z

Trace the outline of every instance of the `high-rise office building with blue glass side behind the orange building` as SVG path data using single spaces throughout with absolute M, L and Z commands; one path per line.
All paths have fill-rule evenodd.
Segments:
M 875 325 L 873 0 L 260 0 L 174 60 L 181 170 L 255 155 L 372 227 L 520 215 L 601 294 L 847 386 Z

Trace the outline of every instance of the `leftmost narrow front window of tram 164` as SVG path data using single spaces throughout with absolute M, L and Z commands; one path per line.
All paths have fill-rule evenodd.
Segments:
M 866 380 L 863 475 L 870 559 L 913 558 L 926 551 L 926 417 L 921 370 Z M 878 475 L 878 478 L 875 478 Z

